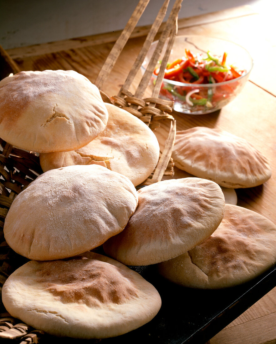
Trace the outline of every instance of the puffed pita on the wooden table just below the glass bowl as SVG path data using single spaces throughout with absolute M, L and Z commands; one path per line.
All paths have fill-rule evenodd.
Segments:
M 271 176 L 261 152 L 245 139 L 219 129 L 178 131 L 172 158 L 181 170 L 228 188 L 261 185 Z

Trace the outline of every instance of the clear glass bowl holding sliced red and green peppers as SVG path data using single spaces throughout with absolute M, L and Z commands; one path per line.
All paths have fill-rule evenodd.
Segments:
M 142 73 L 145 72 L 157 43 L 158 41 L 155 41 L 151 44 L 141 66 Z M 162 60 L 167 43 L 163 48 L 160 60 Z M 162 99 L 173 100 L 173 109 L 175 111 L 191 115 L 208 114 L 221 109 L 241 92 L 253 67 L 252 58 L 246 49 L 233 42 L 218 38 L 196 35 L 176 36 L 168 63 L 172 63 L 182 56 L 186 57 L 185 49 L 187 51 L 190 50 L 194 55 L 200 54 L 199 58 L 207 58 L 207 52 L 210 52 L 213 56 L 222 59 L 224 52 L 226 52 L 226 65 L 233 66 L 238 71 L 243 71 L 243 74 L 232 80 L 209 84 L 183 83 L 163 79 L 159 97 Z M 151 87 L 155 84 L 156 78 L 157 75 L 152 74 L 150 80 Z M 198 97 L 193 96 L 196 94 L 198 94 Z M 200 97 L 201 99 L 204 98 L 203 101 L 194 100 L 197 98 L 200 99 Z

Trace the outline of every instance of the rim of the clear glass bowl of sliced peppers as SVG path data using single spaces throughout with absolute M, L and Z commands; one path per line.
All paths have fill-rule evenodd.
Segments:
M 231 43 L 231 44 L 234 44 L 234 45 L 240 47 L 241 49 L 243 49 L 243 50 L 248 54 L 248 57 L 249 57 L 249 59 L 250 59 L 250 61 L 251 61 L 251 66 L 250 66 L 250 69 L 249 69 L 248 71 L 246 71 L 245 74 L 243 74 L 243 75 L 241 75 L 241 76 L 239 76 L 239 77 L 237 77 L 237 78 L 235 78 L 235 79 L 223 81 L 223 82 L 220 82 L 220 83 L 213 83 L 213 84 L 193 84 L 193 83 L 182 83 L 182 82 L 180 82 L 180 81 L 174 81 L 174 80 L 170 80 L 170 79 L 163 79 L 163 82 L 165 82 L 165 83 L 167 83 L 167 84 L 176 85 L 176 86 L 193 87 L 193 88 L 198 88 L 198 87 L 200 87 L 200 88 L 202 88 L 202 87 L 208 87 L 208 88 L 210 88 L 210 87 L 215 87 L 215 86 L 217 86 L 217 85 L 228 85 L 228 84 L 232 84 L 232 83 L 236 82 L 237 80 L 241 80 L 242 78 L 244 78 L 246 75 L 248 75 L 248 74 L 251 72 L 251 70 L 252 70 L 252 68 L 253 68 L 253 58 L 252 58 L 252 56 L 250 55 L 250 53 L 248 52 L 248 50 L 246 50 L 246 49 L 245 49 L 242 45 L 240 45 L 240 44 L 237 44 L 237 43 L 234 43 L 234 42 L 232 42 L 232 41 L 225 40 L 225 39 L 222 39 L 222 38 L 211 37 L 211 36 L 204 36 L 204 35 L 179 35 L 179 36 L 176 36 L 176 39 L 181 38 L 181 37 L 186 37 L 186 38 L 188 38 L 188 37 L 201 37 L 201 38 L 206 37 L 207 39 L 219 40 L 219 41 L 224 41 L 224 42 L 229 42 L 229 43 Z M 151 43 L 151 46 L 152 46 L 153 44 L 157 43 L 157 42 L 158 42 L 158 40 L 152 42 L 152 43 Z M 141 66 L 141 68 L 144 69 L 144 71 L 146 71 L 146 68 L 145 68 L 143 65 Z M 157 75 L 155 75 L 155 74 L 153 74 L 153 73 L 152 73 L 152 76 L 153 76 L 154 78 L 157 78 Z

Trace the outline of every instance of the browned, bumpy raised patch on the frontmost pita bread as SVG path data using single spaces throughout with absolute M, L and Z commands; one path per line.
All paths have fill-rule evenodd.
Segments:
M 53 273 L 55 271 L 55 273 Z M 122 271 L 95 259 L 76 258 L 45 262 L 37 273 L 37 282 L 45 283 L 45 291 L 63 303 L 122 304 L 138 295 L 138 290 Z

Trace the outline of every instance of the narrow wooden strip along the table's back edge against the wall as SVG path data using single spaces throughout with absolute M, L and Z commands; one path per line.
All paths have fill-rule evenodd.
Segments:
M 241 6 L 224 11 L 217 11 L 208 14 L 197 15 L 190 18 L 179 19 L 178 28 L 188 28 L 202 23 L 210 23 L 221 21 L 226 18 L 241 17 L 254 13 L 252 8 L 248 5 Z M 163 30 L 164 25 L 161 25 L 159 32 Z M 130 38 L 146 36 L 150 30 L 150 25 L 138 26 L 132 32 Z M 28 56 L 36 56 L 48 53 L 54 53 L 61 50 L 78 49 L 86 46 L 93 46 L 103 43 L 115 42 L 120 36 L 121 31 L 101 33 L 97 35 L 83 36 L 72 38 L 69 40 L 62 40 L 57 42 L 49 42 L 43 44 L 35 44 L 31 46 L 18 47 L 8 49 L 7 52 L 11 58 L 23 58 Z

